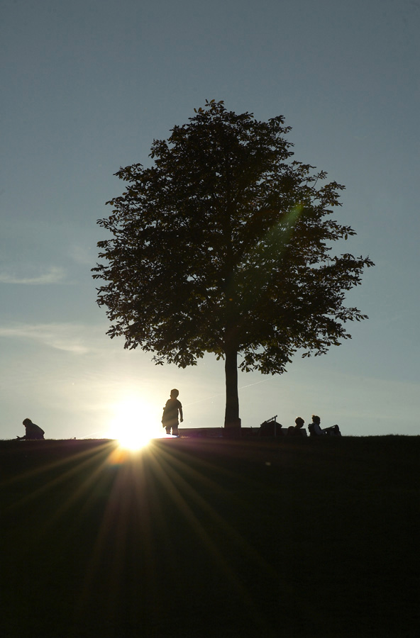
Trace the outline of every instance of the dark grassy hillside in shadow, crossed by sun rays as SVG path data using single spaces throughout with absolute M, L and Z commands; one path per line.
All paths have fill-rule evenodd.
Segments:
M 420 437 L 3 441 L 5 638 L 414 637 Z

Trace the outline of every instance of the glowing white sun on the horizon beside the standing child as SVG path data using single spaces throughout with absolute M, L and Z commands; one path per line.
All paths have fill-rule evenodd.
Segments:
M 114 404 L 113 410 L 109 438 L 118 440 L 123 449 L 136 452 L 151 439 L 162 437 L 159 412 L 153 403 L 144 398 L 125 398 Z

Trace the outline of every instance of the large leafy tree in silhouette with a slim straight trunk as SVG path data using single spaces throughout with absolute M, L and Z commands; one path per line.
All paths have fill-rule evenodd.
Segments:
M 154 140 L 151 167 L 133 164 L 98 224 L 94 278 L 106 284 L 111 338 L 154 352 L 157 364 L 196 365 L 205 352 L 225 361 L 225 427 L 240 427 L 239 368 L 285 371 L 292 354 L 324 354 L 362 320 L 344 306 L 368 257 L 333 254 L 355 231 L 331 218 L 344 186 L 291 160 L 290 127 L 257 121 L 214 100 L 194 109 L 168 140 Z

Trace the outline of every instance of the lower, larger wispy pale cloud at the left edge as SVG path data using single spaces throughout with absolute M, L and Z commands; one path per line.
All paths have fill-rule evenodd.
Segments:
M 74 354 L 86 354 L 93 349 L 89 345 L 91 333 L 92 328 L 66 323 L 0 326 L 0 337 L 33 340 Z

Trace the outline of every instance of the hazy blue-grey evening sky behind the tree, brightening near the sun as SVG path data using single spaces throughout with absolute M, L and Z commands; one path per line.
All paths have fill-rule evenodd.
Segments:
M 0 0 L 0 439 L 220 427 L 223 362 L 185 370 L 106 335 L 91 268 L 120 166 L 206 99 L 283 115 L 294 159 L 346 186 L 342 252 L 375 268 L 348 294 L 369 320 L 287 373 L 240 374 L 240 416 L 313 413 L 343 435 L 419 435 L 419 30 L 414 0 Z M 339 250 L 339 247 L 338 247 Z

